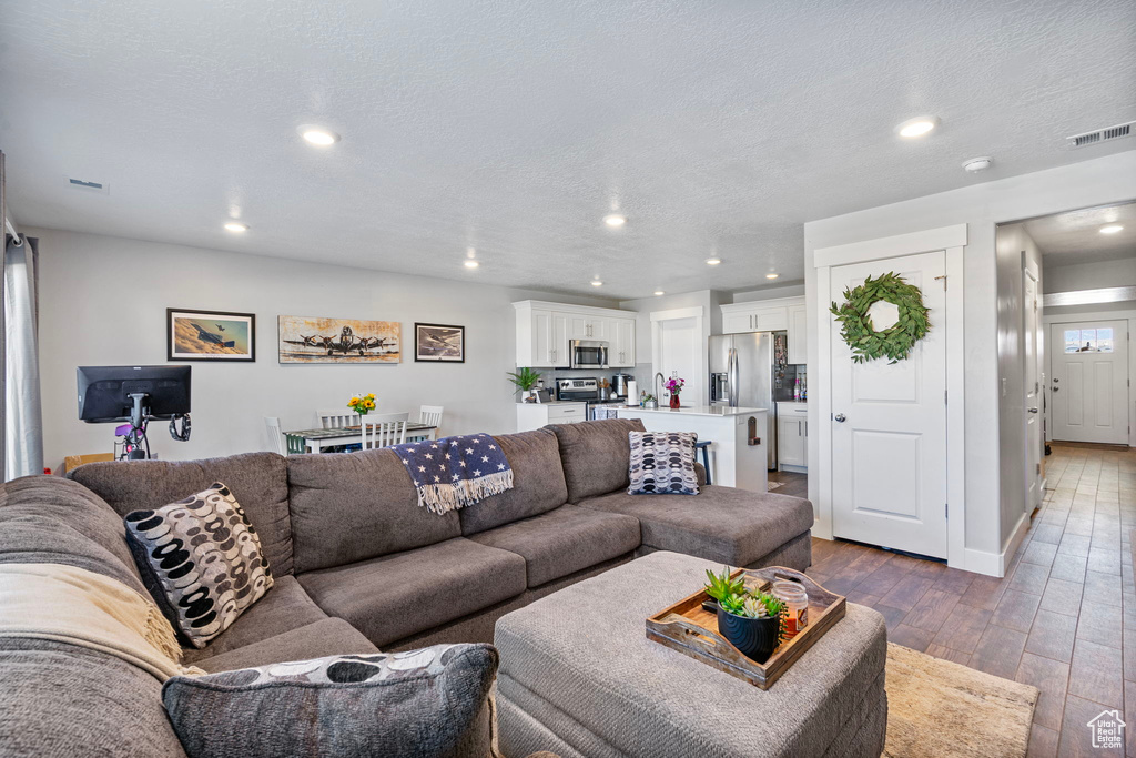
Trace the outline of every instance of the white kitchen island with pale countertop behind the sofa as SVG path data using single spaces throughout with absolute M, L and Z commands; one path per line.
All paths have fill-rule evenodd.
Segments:
M 710 474 L 715 484 L 767 491 L 765 408 L 618 406 L 616 410 L 619 418 L 641 419 L 648 432 L 694 432 L 699 441 L 710 442 Z

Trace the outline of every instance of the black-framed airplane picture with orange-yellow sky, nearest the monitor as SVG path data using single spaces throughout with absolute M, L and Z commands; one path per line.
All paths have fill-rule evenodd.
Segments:
M 256 314 L 166 309 L 166 360 L 257 359 Z

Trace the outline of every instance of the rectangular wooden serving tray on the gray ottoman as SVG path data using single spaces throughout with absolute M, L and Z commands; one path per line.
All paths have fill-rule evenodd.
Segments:
M 732 577 L 746 569 L 738 568 Z M 702 608 L 712 600 L 705 590 L 684 598 L 646 619 L 646 639 L 665 644 L 730 676 L 768 690 L 782 674 L 816 644 L 840 619 L 844 618 L 844 595 L 829 592 L 801 572 L 783 566 L 749 569 L 751 576 L 765 580 L 768 588 L 775 578 L 800 582 L 809 593 L 809 625 L 778 645 L 763 664 L 749 658 L 718 633 L 718 616 Z

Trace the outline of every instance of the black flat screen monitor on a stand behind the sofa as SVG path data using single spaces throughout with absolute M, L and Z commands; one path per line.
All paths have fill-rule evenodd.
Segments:
M 131 420 L 132 394 L 145 394 L 147 418 L 190 413 L 189 366 L 80 366 L 78 417 L 89 424 Z

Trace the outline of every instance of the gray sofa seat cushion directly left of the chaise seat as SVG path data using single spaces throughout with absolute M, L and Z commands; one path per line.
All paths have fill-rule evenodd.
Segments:
M 561 506 L 469 539 L 524 557 L 532 588 L 632 552 L 640 525 L 630 516 Z

